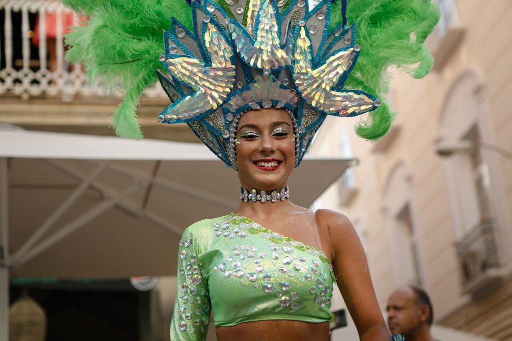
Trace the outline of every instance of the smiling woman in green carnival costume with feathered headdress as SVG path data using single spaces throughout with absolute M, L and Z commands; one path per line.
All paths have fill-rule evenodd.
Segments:
M 389 130 L 386 71 L 415 65 L 407 69 L 413 77 L 428 74 L 433 60 L 423 42 L 439 19 L 437 6 L 430 0 L 65 3 L 90 17 L 68 35 L 68 59 L 124 94 L 113 121 L 119 135 L 142 137 L 135 109 L 158 79 L 171 102 L 158 121 L 186 123 L 238 171 L 240 206 L 189 226 L 180 240 L 170 339 L 205 339 L 214 311 L 219 340 L 327 340 L 337 284 L 360 339 L 389 340 L 350 221 L 296 206 L 287 183 L 328 115 L 368 113 L 356 126 L 368 140 Z

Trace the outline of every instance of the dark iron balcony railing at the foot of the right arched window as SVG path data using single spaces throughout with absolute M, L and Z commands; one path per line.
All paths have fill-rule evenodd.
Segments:
M 457 242 L 464 287 L 480 279 L 488 270 L 500 268 L 496 238 L 496 226 L 487 218 Z

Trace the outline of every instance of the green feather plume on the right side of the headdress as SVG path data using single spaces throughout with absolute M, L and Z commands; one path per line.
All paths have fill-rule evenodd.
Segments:
M 341 2 L 332 4 L 331 29 L 341 24 Z M 382 99 L 389 90 L 388 67 L 397 67 L 414 78 L 426 76 L 434 59 L 424 46 L 439 21 L 440 11 L 431 0 L 349 0 L 347 20 L 357 24 L 361 53 L 345 88 L 361 89 Z M 369 113 L 356 133 L 376 140 L 385 135 L 395 112 L 386 103 Z

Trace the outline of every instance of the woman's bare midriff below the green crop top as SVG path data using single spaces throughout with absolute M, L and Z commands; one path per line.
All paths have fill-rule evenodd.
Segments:
M 327 341 L 329 340 L 329 322 L 254 321 L 231 327 L 217 327 L 215 333 L 219 341 Z

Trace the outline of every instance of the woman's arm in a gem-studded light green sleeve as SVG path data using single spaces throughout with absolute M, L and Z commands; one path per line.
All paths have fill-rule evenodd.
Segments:
M 211 303 L 199 244 L 190 228 L 185 230 L 178 251 L 177 293 L 170 323 L 170 340 L 205 340 Z

